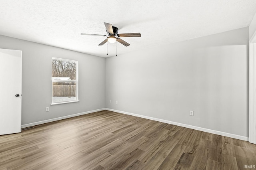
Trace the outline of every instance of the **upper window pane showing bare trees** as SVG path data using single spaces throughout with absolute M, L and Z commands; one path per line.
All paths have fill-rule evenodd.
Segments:
M 76 80 L 76 62 L 52 59 L 52 77 L 62 81 Z

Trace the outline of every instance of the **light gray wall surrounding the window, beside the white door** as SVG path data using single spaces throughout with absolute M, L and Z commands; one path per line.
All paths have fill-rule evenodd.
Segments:
M 22 125 L 105 107 L 105 58 L 6 36 L 0 48 L 22 50 Z M 78 61 L 80 102 L 50 105 L 52 57 Z

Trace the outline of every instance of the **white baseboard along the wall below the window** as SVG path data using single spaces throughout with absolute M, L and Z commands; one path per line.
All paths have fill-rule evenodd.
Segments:
M 104 111 L 104 110 L 106 110 L 106 108 L 97 109 L 97 110 L 93 110 L 93 111 L 87 111 L 87 112 L 83 112 L 83 113 L 76 113 L 76 114 L 74 114 L 74 115 L 67 115 L 67 116 L 63 116 L 63 117 L 57 117 L 57 118 L 48 119 L 48 120 L 45 120 L 45 121 L 39 121 L 39 122 L 34 122 L 34 123 L 28 123 L 28 124 L 25 124 L 25 125 L 21 125 L 21 128 L 32 127 L 32 126 L 41 125 L 41 124 L 44 124 L 44 123 L 59 121 L 59 120 L 67 119 L 67 118 L 70 118 L 70 117 L 76 117 L 76 116 L 80 116 L 80 115 L 86 115 L 86 114 L 89 114 L 89 113 L 94 113 L 94 112 L 99 112 L 99 111 Z

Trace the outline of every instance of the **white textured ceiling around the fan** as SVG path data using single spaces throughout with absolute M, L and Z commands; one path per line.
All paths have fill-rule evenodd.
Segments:
M 116 55 L 116 43 L 98 46 L 106 37 L 104 22 L 122 38 L 117 53 L 207 36 L 250 25 L 256 0 L 1 0 L 0 34 L 101 57 Z

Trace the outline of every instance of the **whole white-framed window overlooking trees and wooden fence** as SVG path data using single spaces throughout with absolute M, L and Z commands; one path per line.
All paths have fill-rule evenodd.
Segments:
M 52 105 L 78 101 L 78 61 L 52 58 Z

